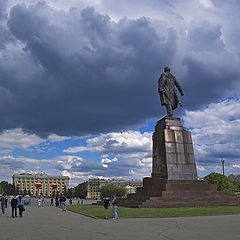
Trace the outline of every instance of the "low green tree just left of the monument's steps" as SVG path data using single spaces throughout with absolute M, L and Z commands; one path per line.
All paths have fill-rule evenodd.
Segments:
M 101 193 L 101 198 L 110 197 L 112 198 L 114 195 L 117 196 L 117 198 L 122 198 L 127 194 L 127 190 L 124 187 L 121 186 L 115 186 L 114 184 L 107 184 L 99 189 Z

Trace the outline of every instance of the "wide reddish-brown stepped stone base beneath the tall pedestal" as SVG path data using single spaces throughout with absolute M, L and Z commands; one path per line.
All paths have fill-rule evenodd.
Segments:
M 167 180 L 152 174 L 143 187 L 119 201 L 119 206 L 135 208 L 238 206 L 240 197 L 231 191 L 217 191 L 216 184 L 201 180 Z

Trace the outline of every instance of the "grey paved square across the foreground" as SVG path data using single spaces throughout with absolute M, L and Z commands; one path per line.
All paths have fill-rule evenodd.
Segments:
M 240 239 L 240 215 L 104 220 L 30 206 L 22 219 L 12 219 L 10 210 L 0 215 L 1 240 Z

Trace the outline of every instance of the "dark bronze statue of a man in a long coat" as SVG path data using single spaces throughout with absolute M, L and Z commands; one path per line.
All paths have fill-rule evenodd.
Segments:
M 170 68 L 165 67 L 164 73 L 158 79 L 158 92 L 160 94 L 161 105 L 166 106 L 167 116 L 173 115 L 173 110 L 177 108 L 178 104 L 182 107 L 177 90 L 183 96 L 183 90 L 176 77 L 170 73 Z

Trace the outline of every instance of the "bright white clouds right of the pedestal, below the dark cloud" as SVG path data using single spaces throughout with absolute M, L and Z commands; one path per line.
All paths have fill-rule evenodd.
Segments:
M 191 129 L 199 171 L 221 172 L 222 157 L 229 174 L 236 170 L 240 157 L 239 109 L 240 100 L 234 97 L 199 111 L 186 111 L 184 125 Z

